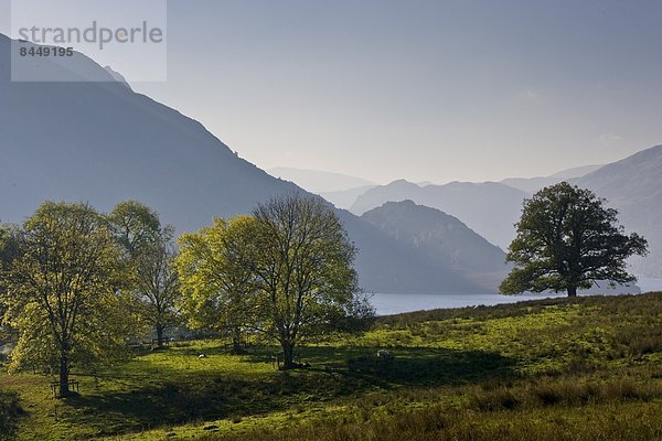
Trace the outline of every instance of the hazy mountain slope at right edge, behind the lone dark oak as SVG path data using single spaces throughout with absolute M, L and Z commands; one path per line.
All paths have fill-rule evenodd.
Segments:
M 573 181 L 619 211 L 627 230 L 643 235 L 650 255 L 632 259 L 634 270 L 662 277 L 662 146 L 656 146 Z

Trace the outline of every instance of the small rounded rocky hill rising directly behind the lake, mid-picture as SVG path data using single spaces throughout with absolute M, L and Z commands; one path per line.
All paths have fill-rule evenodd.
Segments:
M 505 254 L 453 216 L 412 201 L 387 202 L 361 216 L 403 244 L 415 247 L 440 267 L 496 291 L 509 267 Z

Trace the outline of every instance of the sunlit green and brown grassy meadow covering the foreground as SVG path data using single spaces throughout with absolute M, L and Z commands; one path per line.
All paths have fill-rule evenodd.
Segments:
M 227 343 L 78 369 L 66 400 L 51 377 L 3 369 L 0 439 L 662 439 L 662 293 L 380 318 L 301 347 L 311 366 L 290 372 L 275 346 L 233 356 Z

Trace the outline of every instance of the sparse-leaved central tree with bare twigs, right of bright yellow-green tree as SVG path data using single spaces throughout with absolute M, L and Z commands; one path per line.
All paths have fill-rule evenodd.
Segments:
M 266 326 L 293 366 L 293 347 L 305 338 L 371 314 L 357 297 L 356 249 L 335 213 L 320 198 L 292 194 L 259 205 L 250 271 L 260 290 Z

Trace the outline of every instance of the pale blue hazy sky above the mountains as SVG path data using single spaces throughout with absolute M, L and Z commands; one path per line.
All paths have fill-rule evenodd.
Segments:
M 0 0 L 0 29 L 8 15 Z M 177 0 L 168 15 L 168 82 L 134 88 L 260 168 L 482 181 L 662 143 L 660 0 Z

